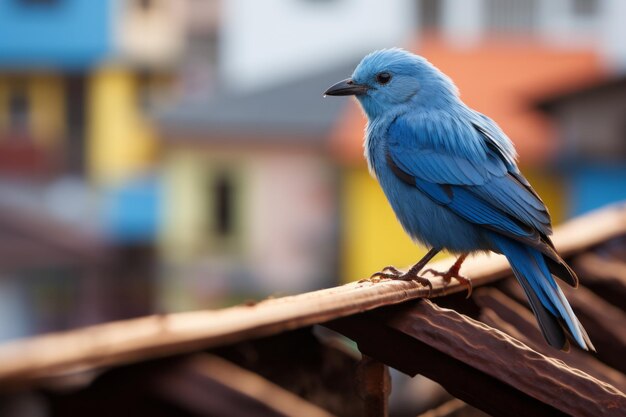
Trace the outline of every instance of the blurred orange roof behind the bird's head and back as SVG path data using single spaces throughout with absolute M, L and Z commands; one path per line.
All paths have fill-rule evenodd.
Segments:
M 537 42 L 491 41 L 458 48 L 430 39 L 409 48 L 448 74 L 470 107 L 494 119 L 515 142 L 520 160 L 546 162 L 559 147 L 533 102 L 605 78 L 593 50 Z M 333 133 L 333 150 L 348 163 L 362 158 L 365 117 L 353 101 Z M 358 159 L 357 159 L 358 158 Z

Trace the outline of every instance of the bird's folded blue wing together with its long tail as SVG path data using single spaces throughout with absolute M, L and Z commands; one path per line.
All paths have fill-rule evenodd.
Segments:
M 576 286 L 576 274 L 554 250 L 548 211 L 517 169 L 506 137 L 484 116 L 438 116 L 396 119 L 386 141 L 388 166 L 437 204 L 495 232 L 494 250 L 509 259 L 551 345 L 566 345 L 566 328 L 593 349 L 551 276 Z

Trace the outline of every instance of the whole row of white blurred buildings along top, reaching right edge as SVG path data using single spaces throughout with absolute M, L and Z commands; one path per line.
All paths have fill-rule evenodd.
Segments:
M 429 32 L 458 47 L 511 37 L 591 47 L 626 67 L 623 0 L 228 0 L 220 9 L 219 79 L 240 91 L 411 46 Z

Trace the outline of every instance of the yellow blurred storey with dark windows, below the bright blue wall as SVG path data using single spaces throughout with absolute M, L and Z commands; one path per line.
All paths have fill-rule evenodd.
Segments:
M 153 164 L 157 146 L 141 106 L 148 82 L 145 75 L 122 67 L 87 74 L 0 74 L 5 170 L 6 164 L 26 164 L 15 169 L 85 173 L 96 183 L 141 174 Z M 23 158 L 15 160 L 16 152 Z

